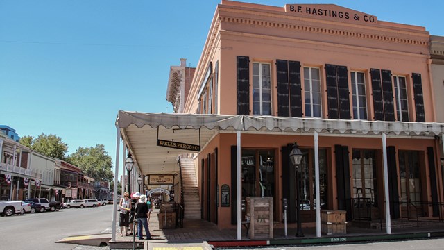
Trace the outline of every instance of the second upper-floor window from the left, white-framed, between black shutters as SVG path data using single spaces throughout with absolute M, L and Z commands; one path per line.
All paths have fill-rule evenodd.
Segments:
M 304 67 L 305 116 L 322 117 L 319 68 Z

